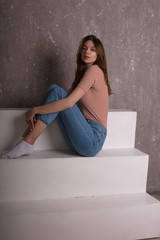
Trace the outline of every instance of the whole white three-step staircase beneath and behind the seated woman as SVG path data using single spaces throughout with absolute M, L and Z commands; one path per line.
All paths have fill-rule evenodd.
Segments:
M 0 110 L 0 152 L 25 129 L 26 109 Z M 136 240 L 160 236 L 146 193 L 148 155 L 134 148 L 136 113 L 111 110 L 96 157 L 65 144 L 56 121 L 31 156 L 0 159 L 0 240 Z

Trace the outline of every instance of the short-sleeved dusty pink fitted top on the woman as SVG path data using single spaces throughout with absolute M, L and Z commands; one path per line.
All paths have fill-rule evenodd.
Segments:
M 103 71 L 97 65 L 90 66 L 77 87 L 85 91 L 84 96 L 78 102 L 84 117 L 99 122 L 106 128 L 108 88 Z

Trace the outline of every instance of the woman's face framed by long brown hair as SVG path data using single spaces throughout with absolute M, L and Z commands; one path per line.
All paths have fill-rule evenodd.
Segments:
M 97 52 L 94 43 L 88 40 L 84 43 L 81 52 L 82 61 L 87 64 L 87 66 L 92 65 L 97 59 Z

